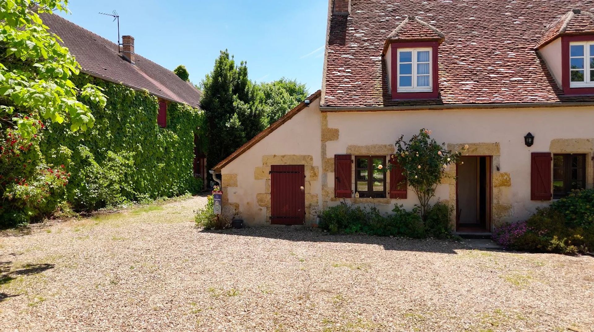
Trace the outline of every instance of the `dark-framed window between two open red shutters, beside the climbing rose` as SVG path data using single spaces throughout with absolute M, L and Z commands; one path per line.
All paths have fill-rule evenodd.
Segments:
M 386 198 L 386 156 L 355 157 L 355 188 L 359 197 Z

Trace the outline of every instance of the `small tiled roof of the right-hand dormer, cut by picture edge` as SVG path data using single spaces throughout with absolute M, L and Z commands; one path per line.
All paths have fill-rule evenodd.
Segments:
M 541 38 L 536 42 L 535 49 L 540 49 L 552 42 L 561 34 L 580 34 L 594 32 L 594 14 L 573 9 L 548 26 Z

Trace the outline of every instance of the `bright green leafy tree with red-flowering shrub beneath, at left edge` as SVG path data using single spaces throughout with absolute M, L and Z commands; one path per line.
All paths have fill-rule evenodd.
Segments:
M 70 80 L 80 66 L 42 24 L 40 12 L 67 11 L 67 0 L 0 1 L 0 222 L 49 213 L 68 183 L 64 165 L 45 165 L 45 121 L 86 130 L 94 118 L 79 99 L 105 106 L 100 89 Z

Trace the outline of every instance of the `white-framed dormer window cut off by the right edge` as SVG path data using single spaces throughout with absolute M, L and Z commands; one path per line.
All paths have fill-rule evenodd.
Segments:
M 594 87 L 594 42 L 569 45 L 570 87 Z

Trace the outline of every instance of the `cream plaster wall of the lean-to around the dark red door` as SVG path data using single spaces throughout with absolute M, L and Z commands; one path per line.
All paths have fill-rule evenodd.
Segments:
M 320 141 L 320 99 L 318 98 L 312 101 L 309 107 L 301 110 L 292 119 L 271 132 L 267 137 L 264 137 L 263 140 L 255 144 L 248 151 L 245 151 L 245 153 L 241 154 L 241 156 L 233 160 L 229 165 L 223 167 L 221 170 L 223 175 L 223 200 L 238 204 L 238 210 L 241 211 L 241 217 L 247 225 L 267 225 L 270 223 L 270 220 L 267 220 L 267 207 L 260 206 L 264 205 L 261 202 L 258 204 L 258 194 L 260 194 L 261 200 L 263 200 L 263 194 L 266 194 L 266 192 L 270 193 L 270 188 L 268 187 L 270 183 L 266 179 L 267 172 L 266 166 L 263 166 L 263 156 L 311 156 L 313 158 L 313 166 L 306 166 L 306 173 L 308 173 L 308 167 L 312 167 L 312 170 L 315 170 L 315 167 L 317 167 L 317 172 L 319 173 L 321 170 Z M 309 157 L 307 159 L 309 163 Z M 258 171 L 264 173 L 261 176 L 255 174 Z M 233 176 L 235 174 L 237 175 L 236 186 L 226 186 L 225 178 L 235 179 L 235 176 Z M 270 176 L 267 178 L 270 179 Z M 310 178 L 312 181 L 310 181 Z M 311 189 L 308 188 L 311 194 L 321 192 L 320 179 L 317 173 L 315 176 L 310 176 L 308 173 L 306 181 L 311 185 Z M 311 197 L 307 197 L 307 200 L 311 199 Z M 318 195 L 317 201 L 312 206 L 319 205 L 319 200 Z M 227 204 L 233 205 L 229 203 Z M 306 216 L 306 222 L 308 220 L 311 221 L 311 219 L 311 214 Z

